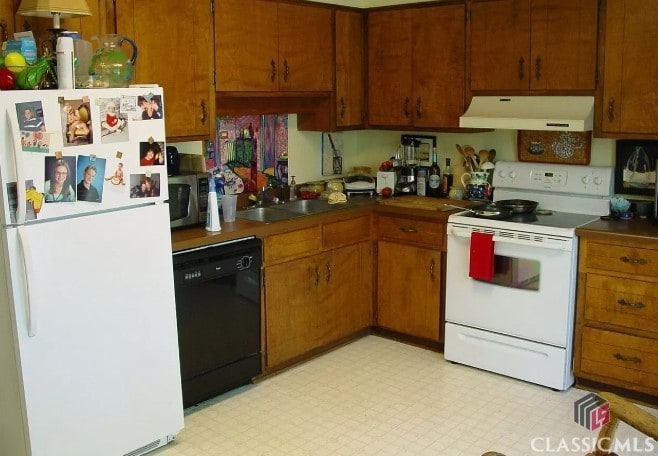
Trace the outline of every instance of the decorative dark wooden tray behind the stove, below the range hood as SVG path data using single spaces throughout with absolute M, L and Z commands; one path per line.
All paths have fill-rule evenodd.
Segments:
M 589 165 L 591 131 L 519 130 L 519 161 Z

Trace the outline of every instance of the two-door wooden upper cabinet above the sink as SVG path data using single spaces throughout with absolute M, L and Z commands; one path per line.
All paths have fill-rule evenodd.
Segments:
M 219 0 L 216 90 L 332 90 L 332 19 L 332 10 L 322 6 Z

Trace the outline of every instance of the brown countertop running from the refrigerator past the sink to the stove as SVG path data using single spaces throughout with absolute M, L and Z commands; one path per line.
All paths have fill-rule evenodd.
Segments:
M 318 223 L 353 218 L 359 213 L 368 213 L 374 210 L 378 213 L 388 215 L 411 215 L 439 221 L 447 220 L 448 216 L 458 211 L 458 209 L 445 206 L 446 203 L 455 204 L 460 207 L 468 207 L 475 204 L 465 200 L 456 201 L 415 195 L 388 199 L 351 197 L 344 209 L 297 217 L 290 220 L 273 223 L 252 222 L 240 219 L 237 219 L 235 222 L 226 223 L 221 220 L 222 230 L 213 233 L 206 231 L 202 226 L 176 229 L 171 233 L 172 250 L 174 252 L 188 250 L 248 236 L 271 236 L 273 234 L 306 228 Z

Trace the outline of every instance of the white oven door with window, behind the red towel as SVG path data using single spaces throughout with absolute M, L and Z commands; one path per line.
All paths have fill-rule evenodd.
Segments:
M 469 277 L 471 233 L 493 234 L 494 277 Z M 446 321 L 570 345 L 577 238 L 448 223 Z

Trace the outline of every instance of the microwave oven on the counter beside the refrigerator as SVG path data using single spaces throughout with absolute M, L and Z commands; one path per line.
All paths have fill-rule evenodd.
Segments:
M 169 176 L 169 221 L 171 228 L 206 223 L 208 211 L 207 173 Z

